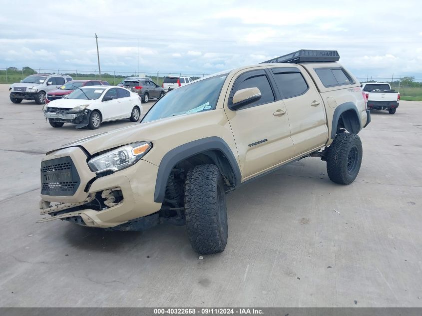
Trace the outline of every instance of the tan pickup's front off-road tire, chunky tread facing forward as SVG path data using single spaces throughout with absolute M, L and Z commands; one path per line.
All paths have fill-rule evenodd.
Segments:
M 227 207 L 223 178 L 215 165 L 190 169 L 185 181 L 186 229 L 190 244 L 201 255 L 224 251 Z

